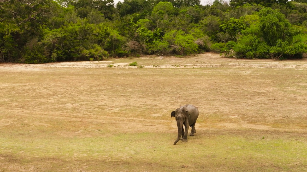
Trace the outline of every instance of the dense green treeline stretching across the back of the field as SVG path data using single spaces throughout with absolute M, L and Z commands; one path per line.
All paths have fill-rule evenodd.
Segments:
M 224 52 L 301 58 L 307 0 L 0 0 L 0 62 Z

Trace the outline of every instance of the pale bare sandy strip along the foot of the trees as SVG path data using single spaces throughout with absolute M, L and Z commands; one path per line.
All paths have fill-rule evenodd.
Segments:
M 160 60 L 159 57 L 146 56 L 141 58 L 134 58 L 139 65 L 142 62 L 151 61 L 153 65 L 143 65 L 144 68 L 204 68 L 204 67 L 252 67 L 252 68 L 307 68 L 307 59 L 297 60 L 273 60 L 273 59 L 233 59 L 223 58 L 219 54 L 204 53 L 187 58 L 164 57 Z M 3 69 L 7 70 L 44 70 L 46 68 L 86 68 L 99 69 L 107 68 L 107 65 L 114 65 L 116 68 L 137 68 L 137 66 L 129 66 L 127 59 L 115 58 L 107 61 L 86 61 L 86 62 L 56 62 L 47 64 L 0 64 Z M 193 62 L 193 63 L 192 63 Z M 171 63 L 171 64 L 165 64 Z

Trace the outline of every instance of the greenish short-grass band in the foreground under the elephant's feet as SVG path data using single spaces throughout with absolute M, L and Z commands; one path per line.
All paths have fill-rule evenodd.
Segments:
M 156 168 L 164 171 L 180 170 L 182 166 L 197 171 L 220 168 L 227 171 L 304 171 L 307 166 L 305 138 L 297 141 L 274 139 L 274 135 L 266 135 L 265 139 L 253 135 L 197 135 L 188 137 L 187 143 L 180 141 L 173 145 L 175 139 L 176 133 L 126 133 L 86 138 L 59 136 L 48 140 L 1 137 L 0 147 L 2 155 L 14 154 L 15 159 L 21 159 L 21 164 L 25 163 L 23 165 L 43 158 L 59 158 L 69 165 L 78 166 L 78 161 L 95 165 L 85 170 L 110 170 L 108 168 L 114 163 L 129 164 L 127 170 L 146 170 L 155 164 Z M 27 157 L 36 158 L 26 160 Z M 95 159 L 110 164 L 96 164 Z M 64 164 L 58 165 L 64 168 Z M 170 170 L 171 167 L 173 169 Z M 119 168 L 114 167 L 113 170 Z

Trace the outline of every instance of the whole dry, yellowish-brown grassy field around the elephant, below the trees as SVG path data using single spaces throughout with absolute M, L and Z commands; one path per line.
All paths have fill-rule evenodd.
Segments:
M 0 64 L 0 90 L 0 171 L 307 171 L 306 59 Z

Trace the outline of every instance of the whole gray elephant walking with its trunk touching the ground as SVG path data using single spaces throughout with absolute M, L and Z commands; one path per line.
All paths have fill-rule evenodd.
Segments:
M 181 136 L 182 136 L 181 140 L 187 142 L 189 126 L 192 127 L 190 136 L 194 136 L 194 133 L 196 133 L 195 123 L 198 118 L 197 107 L 190 104 L 186 104 L 173 111 L 171 113 L 171 118 L 172 117 L 176 118 L 177 127 L 178 127 L 178 137 L 175 140 L 174 144 L 176 144 L 180 140 Z M 183 125 L 185 125 L 185 129 L 183 129 Z

